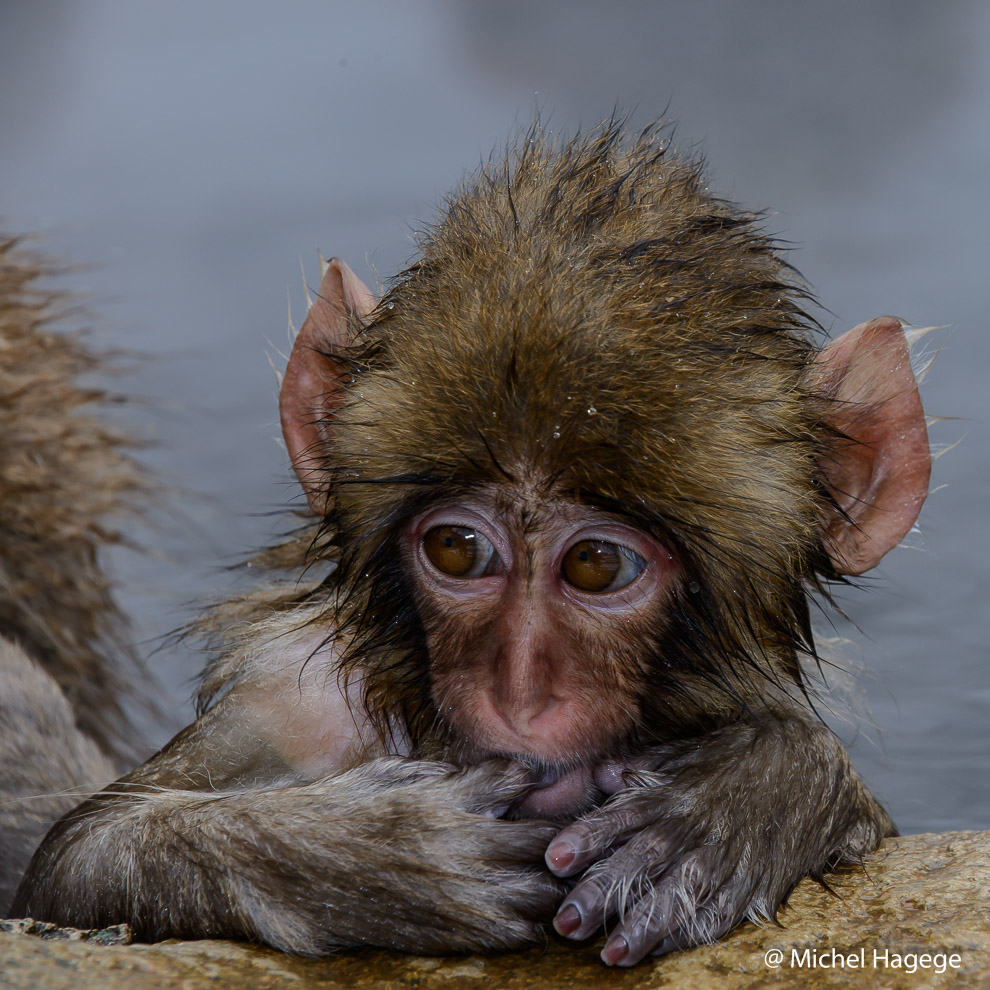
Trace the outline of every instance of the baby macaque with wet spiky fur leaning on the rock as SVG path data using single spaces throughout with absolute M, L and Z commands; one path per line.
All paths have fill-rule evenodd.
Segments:
M 900 322 L 820 346 L 806 301 L 620 124 L 526 133 L 380 300 L 331 261 L 280 400 L 309 583 L 213 614 L 197 721 L 14 911 L 307 955 L 604 925 L 631 965 L 893 834 L 801 661 L 808 593 L 913 526 L 925 420 Z

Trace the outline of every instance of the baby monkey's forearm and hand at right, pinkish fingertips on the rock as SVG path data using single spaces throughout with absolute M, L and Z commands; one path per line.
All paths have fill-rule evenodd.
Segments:
M 587 938 L 617 917 L 602 951 L 610 965 L 774 918 L 803 877 L 895 834 L 839 741 L 798 710 L 746 717 L 656 757 L 547 850 L 558 876 L 585 870 L 557 930 Z

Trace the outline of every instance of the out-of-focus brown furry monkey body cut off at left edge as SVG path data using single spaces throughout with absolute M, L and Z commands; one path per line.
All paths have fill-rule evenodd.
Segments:
M 100 550 L 144 490 L 124 435 L 81 384 L 105 362 L 52 326 L 49 266 L 0 237 L 0 914 L 38 842 L 133 765 L 138 667 Z

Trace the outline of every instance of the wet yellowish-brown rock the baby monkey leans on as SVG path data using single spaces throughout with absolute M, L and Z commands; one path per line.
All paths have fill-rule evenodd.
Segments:
M 746 924 L 716 945 L 609 970 L 602 939 L 502 956 L 445 959 L 391 952 L 293 959 L 234 942 L 119 944 L 126 926 L 72 932 L 0 922 L 0 987 L 107 990 L 205 987 L 584 988 L 847 986 L 884 990 L 990 986 L 990 831 L 887 840 L 866 868 L 801 883 L 783 927 Z

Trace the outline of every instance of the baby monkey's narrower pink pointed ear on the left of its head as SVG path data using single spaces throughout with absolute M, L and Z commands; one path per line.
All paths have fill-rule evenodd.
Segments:
M 310 507 L 329 508 L 326 441 L 340 405 L 346 366 L 329 355 L 343 352 L 355 327 L 378 305 L 371 290 L 339 258 L 331 258 L 320 291 L 296 336 L 278 396 L 282 436 L 292 469 Z

